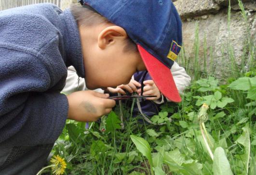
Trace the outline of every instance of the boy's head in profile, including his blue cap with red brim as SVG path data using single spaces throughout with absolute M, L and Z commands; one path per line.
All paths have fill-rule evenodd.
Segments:
M 182 42 L 181 20 L 171 0 L 80 2 L 106 17 L 89 25 L 77 18 L 89 88 L 128 83 L 136 70 L 147 68 L 165 97 L 181 100 L 170 71 Z M 91 20 L 83 13 L 81 18 Z

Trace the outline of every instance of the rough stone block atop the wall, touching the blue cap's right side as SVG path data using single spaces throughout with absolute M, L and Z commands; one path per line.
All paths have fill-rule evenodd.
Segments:
M 197 16 L 206 13 L 217 13 L 219 5 L 213 0 L 177 0 L 174 2 L 175 7 L 179 10 L 181 18 L 186 18 L 196 14 Z

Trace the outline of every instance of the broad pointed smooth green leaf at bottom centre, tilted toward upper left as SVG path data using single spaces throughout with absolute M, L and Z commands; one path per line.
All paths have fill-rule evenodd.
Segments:
M 152 156 L 151 156 L 151 147 L 148 144 L 148 141 L 145 140 L 144 138 L 137 137 L 134 135 L 130 136 L 132 141 L 134 142 L 137 150 L 139 150 L 144 156 L 148 158 L 148 162 L 150 164 L 151 169 L 153 168 L 153 161 L 152 161 Z

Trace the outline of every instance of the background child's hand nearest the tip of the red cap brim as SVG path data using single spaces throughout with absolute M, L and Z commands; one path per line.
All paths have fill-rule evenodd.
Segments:
M 159 89 L 156 87 L 153 80 L 146 80 L 143 82 L 143 95 L 155 95 L 157 97 L 146 98 L 146 100 L 158 100 L 161 97 Z M 141 95 L 141 89 L 137 90 L 137 93 Z

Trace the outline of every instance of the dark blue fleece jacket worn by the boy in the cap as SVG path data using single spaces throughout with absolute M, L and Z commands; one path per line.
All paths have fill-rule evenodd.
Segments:
M 53 4 L 0 12 L 0 145 L 54 143 L 67 119 L 67 66 L 84 77 L 81 40 L 69 10 Z

